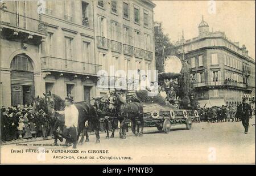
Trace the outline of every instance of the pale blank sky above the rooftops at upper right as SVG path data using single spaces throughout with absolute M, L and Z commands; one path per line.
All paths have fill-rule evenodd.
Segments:
M 184 31 L 188 40 L 198 36 L 201 16 L 209 31 L 223 31 L 233 42 L 246 45 L 255 59 L 255 1 L 153 1 L 154 20 L 163 23 L 163 32 L 177 41 Z

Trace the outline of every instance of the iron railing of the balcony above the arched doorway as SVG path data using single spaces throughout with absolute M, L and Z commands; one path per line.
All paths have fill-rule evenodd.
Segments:
M 1 24 L 44 34 L 47 27 L 47 23 L 40 20 L 3 10 L 1 10 Z

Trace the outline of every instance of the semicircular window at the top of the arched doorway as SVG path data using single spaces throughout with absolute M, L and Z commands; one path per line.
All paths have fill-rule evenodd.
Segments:
M 22 71 L 33 71 L 31 59 L 23 54 L 16 55 L 13 58 L 13 61 L 11 61 L 11 69 L 22 70 Z

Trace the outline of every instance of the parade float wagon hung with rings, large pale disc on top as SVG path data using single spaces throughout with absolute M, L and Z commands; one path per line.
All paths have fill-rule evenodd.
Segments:
M 159 90 L 164 87 L 167 79 L 172 81 L 170 85 L 177 92 L 172 104 L 163 98 L 160 93 L 155 96 L 146 96 L 142 91 L 135 92 L 143 104 L 144 127 L 156 127 L 159 131 L 168 133 L 171 130 L 171 126 L 185 125 L 185 128 L 190 130 L 192 118 L 199 117 L 197 110 L 184 109 L 185 107 L 191 107 L 191 98 L 189 98 L 190 85 L 179 83 L 180 81 L 184 81 L 184 83 L 186 81 L 190 82 L 190 77 L 186 76 L 185 71 L 182 70 L 184 65 L 179 58 L 171 56 L 164 63 L 164 72 L 158 74 Z M 180 86 L 183 87 L 181 88 Z M 134 101 L 131 97 L 133 97 L 132 94 L 126 94 L 127 101 Z

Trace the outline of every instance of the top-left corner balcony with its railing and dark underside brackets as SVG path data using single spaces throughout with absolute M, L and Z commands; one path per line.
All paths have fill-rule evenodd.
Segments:
M 1 36 L 7 40 L 38 45 L 46 34 L 47 23 L 1 10 Z

